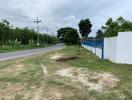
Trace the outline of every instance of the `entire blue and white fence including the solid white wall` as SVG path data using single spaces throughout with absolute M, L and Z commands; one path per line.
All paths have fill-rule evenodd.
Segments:
M 89 40 L 82 42 L 82 46 L 101 59 L 132 64 L 132 32 L 119 32 L 116 37 Z

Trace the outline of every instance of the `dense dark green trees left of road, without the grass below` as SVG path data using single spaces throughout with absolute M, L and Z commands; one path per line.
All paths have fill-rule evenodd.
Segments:
M 40 38 L 40 44 L 56 43 L 58 39 L 55 36 L 40 34 L 29 28 L 12 28 L 7 20 L 0 22 L 0 45 L 19 43 L 37 44 L 37 38 Z

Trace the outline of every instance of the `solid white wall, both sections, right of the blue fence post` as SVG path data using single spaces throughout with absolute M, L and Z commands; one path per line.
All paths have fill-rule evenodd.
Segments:
M 104 58 L 115 63 L 132 64 L 132 32 L 119 32 L 117 37 L 105 38 Z

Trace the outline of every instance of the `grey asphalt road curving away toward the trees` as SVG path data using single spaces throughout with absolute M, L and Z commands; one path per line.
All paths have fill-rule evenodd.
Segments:
M 12 60 L 20 57 L 28 57 L 36 54 L 41 54 L 48 51 L 54 51 L 57 49 L 63 48 L 63 44 L 57 44 L 52 47 L 41 48 L 41 49 L 33 49 L 33 50 L 24 50 L 24 51 L 17 51 L 17 52 L 8 52 L 8 53 L 0 53 L 0 61 L 7 61 Z

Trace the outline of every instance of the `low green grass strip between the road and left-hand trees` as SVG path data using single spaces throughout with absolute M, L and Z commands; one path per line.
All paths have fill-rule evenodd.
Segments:
M 3 46 L 0 46 L 0 53 L 36 49 L 36 48 L 44 48 L 48 46 L 51 46 L 51 44 L 40 45 L 40 46 L 37 46 L 37 45 L 3 45 Z

